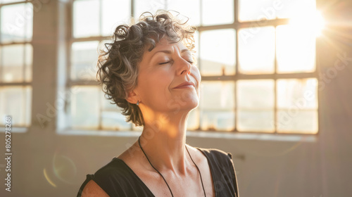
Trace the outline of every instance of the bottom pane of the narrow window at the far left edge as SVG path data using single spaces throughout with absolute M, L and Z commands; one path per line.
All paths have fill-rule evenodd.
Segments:
M 0 88 L 0 117 L 4 125 L 6 115 L 12 116 L 15 126 L 30 125 L 30 110 L 32 105 L 31 87 L 1 87 Z

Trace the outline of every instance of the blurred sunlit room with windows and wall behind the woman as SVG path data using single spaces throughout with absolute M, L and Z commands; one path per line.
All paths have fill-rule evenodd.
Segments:
M 158 9 L 197 27 L 187 144 L 232 153 L 240 196 L 351 196 L 350 0 L 0 0 L 0 196 L 76 196 L 137 140 L 96 51 Z

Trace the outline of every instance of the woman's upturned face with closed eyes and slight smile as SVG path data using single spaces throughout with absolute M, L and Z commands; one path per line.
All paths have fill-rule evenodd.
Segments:
M 180 87 L 184 82 L 194 86 Z M 200 82 L 191 51 L 182 42 L 170 44 L 161 39 L 153 50 L 144 52 L 135 91 L 137 99 L 142 101 L 141 109 L 177 113 L 198 106 Z

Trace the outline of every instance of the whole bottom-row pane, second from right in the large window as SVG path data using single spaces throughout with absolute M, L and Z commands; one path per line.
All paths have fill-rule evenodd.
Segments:
M 237 130 L 274 132 L 274 96 L 274 80 L 239 80 Z

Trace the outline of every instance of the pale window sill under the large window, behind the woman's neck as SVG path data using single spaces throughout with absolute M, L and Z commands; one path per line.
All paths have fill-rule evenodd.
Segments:
M 58 131 L 60 135 L 80 135 L 80 136 L 122 136 L 137 137 L 140 131 L 98 131 L 98 130 L 76 130 L 66 129 Z M 318 141 L 318 135 L 313 134 L 258 134 L 258 133 L 227 133 L 227 132 L 203 132 L 187 131 L 187 136 L 199 138 L 218 138 L 218 139 L 239 139 L 239 140 L 258 140 L 258 141 Z

